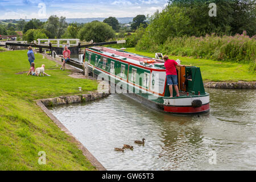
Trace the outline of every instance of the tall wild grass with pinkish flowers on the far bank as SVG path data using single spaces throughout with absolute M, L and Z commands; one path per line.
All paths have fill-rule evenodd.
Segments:
M 250 64 L 250 71 L 255 72 L 256 69 L 256 36 L 250 38 L 246 35 L 246 31 L 235 36 L 212 34 L 204 37 L 168 38 L 164 44 L 154 43 L 148 36 L 144 35 L 139 40 L 136 49 L 137 51 L 160 51 L 168 55 L 247 63 Z

